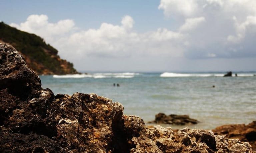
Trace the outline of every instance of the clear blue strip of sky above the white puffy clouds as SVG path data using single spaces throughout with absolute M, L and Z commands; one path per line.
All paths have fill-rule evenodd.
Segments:
M 159 1 L 22 1 L 1 0 L 5 4 L 2 8 L 1 20 L 5 23 L 24 22 L 31 14 L 45 14 L 51 23 L 61 19 L 72 19 L 76 26 L 82 29 L 99 27 L 107 22 L 119 24 L 120 18 L 130 15 L 136 21 L 135 30 L 145 32 L 173 24 L 165 19 L 163 12 L 157 8 Z M 146 26 L 145 26 L 146 25 Z

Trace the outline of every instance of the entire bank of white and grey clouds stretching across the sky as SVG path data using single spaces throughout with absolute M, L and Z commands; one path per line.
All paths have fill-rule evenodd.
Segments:
M 256 57 L 255 0 L 161 0 L 158 9 L 167 19 L 175 19 L 178 28 L 170 30 L 167 25 L 136 32 L 136 21 L 129 15 L 116 25 L 102 23 L 83 30 L 70 19 L 49 23 L 46 15 L 31 15 L 11 26 L 43 37 L 71 61 L 85 57 Z

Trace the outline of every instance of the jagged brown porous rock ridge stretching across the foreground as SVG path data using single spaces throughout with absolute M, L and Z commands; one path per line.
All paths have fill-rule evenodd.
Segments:
M 148 128 L 95 94 L 54 95 L 10 45 L 0 44 L 0 152 L 252 153 L 212 131 Z

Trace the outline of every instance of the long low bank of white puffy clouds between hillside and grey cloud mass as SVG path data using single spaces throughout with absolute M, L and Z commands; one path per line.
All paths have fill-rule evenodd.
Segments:
M 72 20 L 49 23 L 46 15 L 30 15 L 25 22 L 10 25 L 43 37 L 59 50 L 61 57 L 71 61 L 85 57 L 183 56 L 184 34 L 166 28 L 137 33 L 134 23 L 126 15 L 119 25 L 102 23 L 97 29 L 74 30 Z

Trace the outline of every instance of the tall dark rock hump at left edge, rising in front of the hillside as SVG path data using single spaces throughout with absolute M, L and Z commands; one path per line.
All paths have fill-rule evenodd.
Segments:
M 26 98 L 41 88 L 41 80 L 14 47 L 0 44 L 0 90 L 5 88 L 12 95 Z

